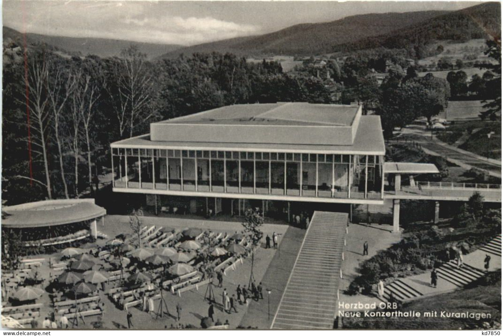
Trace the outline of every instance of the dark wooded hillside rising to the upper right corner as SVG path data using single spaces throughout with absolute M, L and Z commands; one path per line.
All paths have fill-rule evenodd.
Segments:
M 334 45 L 332 51 L 406 48 L 439 40 L 468 41 L 501 36 L 500 3 L 484 3 L 412 24 L 391 33 Z

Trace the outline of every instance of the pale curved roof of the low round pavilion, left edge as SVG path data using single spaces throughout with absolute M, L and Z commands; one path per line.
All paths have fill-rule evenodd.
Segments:
M 4 207 L 2 212 L 2 226 L 18 229 L 78 223 L 107 214 L 92 198 L 42 200 Z

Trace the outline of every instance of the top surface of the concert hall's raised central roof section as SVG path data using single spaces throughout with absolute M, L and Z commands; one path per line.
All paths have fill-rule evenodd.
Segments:
M 351 126 L 358 105 L 310 103 L 236 104 L 160 121 L 165 124 Z

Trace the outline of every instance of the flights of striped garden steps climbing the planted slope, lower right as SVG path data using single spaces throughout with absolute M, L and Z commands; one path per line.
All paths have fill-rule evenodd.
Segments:
M 490 242 L 472 253 L 479 254 L 480 260 L 482 260 L 483 254 L 486 253 L 491 254 L 492 256 L 501 257 L 501 235 L 494 237 Z M 465 259 L 467 259 L 467 256 L 465 256 Z M 497 261 L 495 260 L 494 262 Z M 482 264 L 482 262 L 476 263 L 476 265 L 480 265 L 480 268 L 477 268 L 465 262 L 462 267 L 458 268 L 456 260 L 450 260 L 437 268 L 437 273 L 439 280 L 442 279 L 443 281 L 447 281 L 448 283 L 454 285 L 450 285 L 448 290 L 454 290 L 480 279 L 484 275 Z M 426 278 L 429 279 L 429 276 Z M 436 294 L 437 292 L 439 292 L 439 290 L 432 290 L 427 293 L 425 292 L 424 286 L 421 288 L 421 286 L 417 285 L 417 281 L 414 282 L 409 278 L 404 278 L 396 280 L 384 287 L 384 299 L 389 300 L 392 296 L 393 299 L 403 302 L 414 300 L 424 295 Z

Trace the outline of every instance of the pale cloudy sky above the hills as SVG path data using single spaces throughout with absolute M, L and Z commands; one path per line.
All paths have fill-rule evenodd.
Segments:
M 365 13 L 458 10 L 473 2 L 216 2 L 4 0 L 22 32 L 192 45 Z

